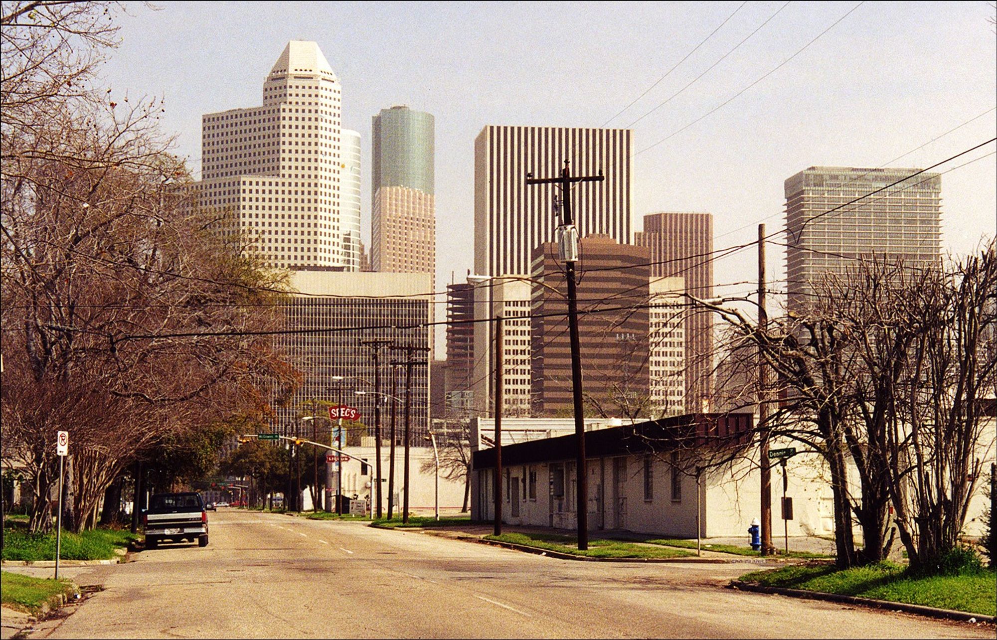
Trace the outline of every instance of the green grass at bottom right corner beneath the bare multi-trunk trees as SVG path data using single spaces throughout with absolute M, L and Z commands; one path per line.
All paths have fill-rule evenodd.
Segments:
M 823 591 L 863 598 L 921 604 L 983 615 L 997 614 L 997 573 L 917 576 L 891 562 L 837 570 L 828 565 L 796 565 L 741 576 L 745 582 Z

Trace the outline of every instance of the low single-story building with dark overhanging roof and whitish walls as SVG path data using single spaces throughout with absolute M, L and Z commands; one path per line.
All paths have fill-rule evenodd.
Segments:
M 979 453 L 985 470 L 994 461 L 992 414 L 991 401 Z M 589 529 L 696 537 L 698 514 L 701 536 L 743 535 L 747 539 L 747 529 L 761 511 L 758 450 L 747 448 L 753 423 L 750 413 L 732 413 L 676 416 L 620 427 L 600 425 L 591 431 L 586 424 Z M 493 425 L 490 421 L 489 426 Z M 502 442 L 502 521 L 576 528 L 575 436 L 512 445 L 503 437 Z M 702 471 L 697 478 L 697 448 L 722 443 L 741 447 L 742 456 Z M 473 438 L 473 449 L 475 444 Z M 773 450 L 791 447 L 801 452 L 786 459 L 785 467 L 779 460 L 772 461 L 773 534 L 777 539 L 784 534 L 832 535 L 828 466 L 823 457 L 803 452 L 793 442 L 771 444 Z M 472 518 L 490 521 L 495 518 L 495 449 L 478 449 L 472 461 Z M 781 517 L 784 482 L 786 495 L 793 501 L 793 518 L 785 521 Z M 849 466 L 848 484 L 852 494 L 860 494 L 853 466 Z M 980 486 L 967 513 L 966 535 L 982 534 L 985 506 Z

